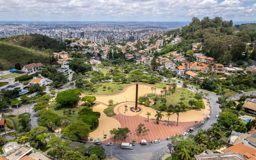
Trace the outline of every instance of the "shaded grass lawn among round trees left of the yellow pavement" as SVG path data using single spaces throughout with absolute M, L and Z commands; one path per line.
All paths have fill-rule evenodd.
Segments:
M 60 116 L 60 121 L 61 121 L 61 122 L 64 121 L 64 120 L 69 120 L 70 123 L 76 122 L 77 119 L 78 119 L 78 117 L 79 117 L 78 112 L 79 112 L 82 108 L 86 107 L 86 106 L 80 106 L 80 107 L 66 107 L 65 109 L 55 110 L 55 109 L 54 109 L 55 103 L 56 103 L 55 100 L 52 101 L 51 104 L 50 104 L 49 107 L 48 107 L 48 110 L 51 110 L 52 112 L 58 114 L 58 115 Z M 95 106 L 95 105 L 98 105 L 98 103 L 93 104 L 92 106 Z M 67 114 L 67 113 L 66 113 L 65 115 L 63 115 L 63 110 L 68 111 L 68 109 L 71 109 L 72 111 L 75 111 L 75 113 L 73 114 L 73 112 L 71 111 L 71 114 L 69 114 L 69 113 Z M 62 126 L 60 126 L 60 128 L 62 128 Z

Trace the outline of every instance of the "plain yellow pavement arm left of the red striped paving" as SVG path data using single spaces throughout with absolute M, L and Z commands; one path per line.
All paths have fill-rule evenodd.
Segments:
M 99 126 L 98 128 L 91 132 L 88 136 L 88 138 L 93 138 L 93 139 L 97 139 L 100 138 L 101 141 L 107 140 L 111 137 L 113 137 L 113 135 L 110 135 L 109 131 L 112 130 L 113 128 L 118 128 L 121 127 L 121 124 L 118 122 L 118 120 L 108 117 L 106 116 L 106 114 L 103 112 L 103 110 L 107 108 L 107 106 L 103 105 L 103 104 L 99 104 L 95 107 L 93 107 L 93 111 L 94 112 L 100 112 L 100 118 L 99 118 Z M 107 138 L 104 139 L 104 134 L 103 134 L 103 130 L 104 130 L 104 134 L 107 134 Z

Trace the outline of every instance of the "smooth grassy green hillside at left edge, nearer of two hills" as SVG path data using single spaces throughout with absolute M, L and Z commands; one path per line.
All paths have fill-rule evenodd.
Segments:
M 20 63 L 23 66 L 28 61 L 49 64 L 49 54 L 0 41 L 1 70 L 13 69 L 15 68 L 15 63 Z

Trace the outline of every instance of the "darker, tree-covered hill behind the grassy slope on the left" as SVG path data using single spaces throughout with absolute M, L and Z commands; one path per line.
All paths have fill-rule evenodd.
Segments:
M 37 47 L 41 50 L 45 49 L 59 49 L 59 42 L 47 36 L 32 34 L 32 35 L 19 35 L 15 37 L 0 38 L 0 41 L 8 42 L 22 47 L 31 48 Z

